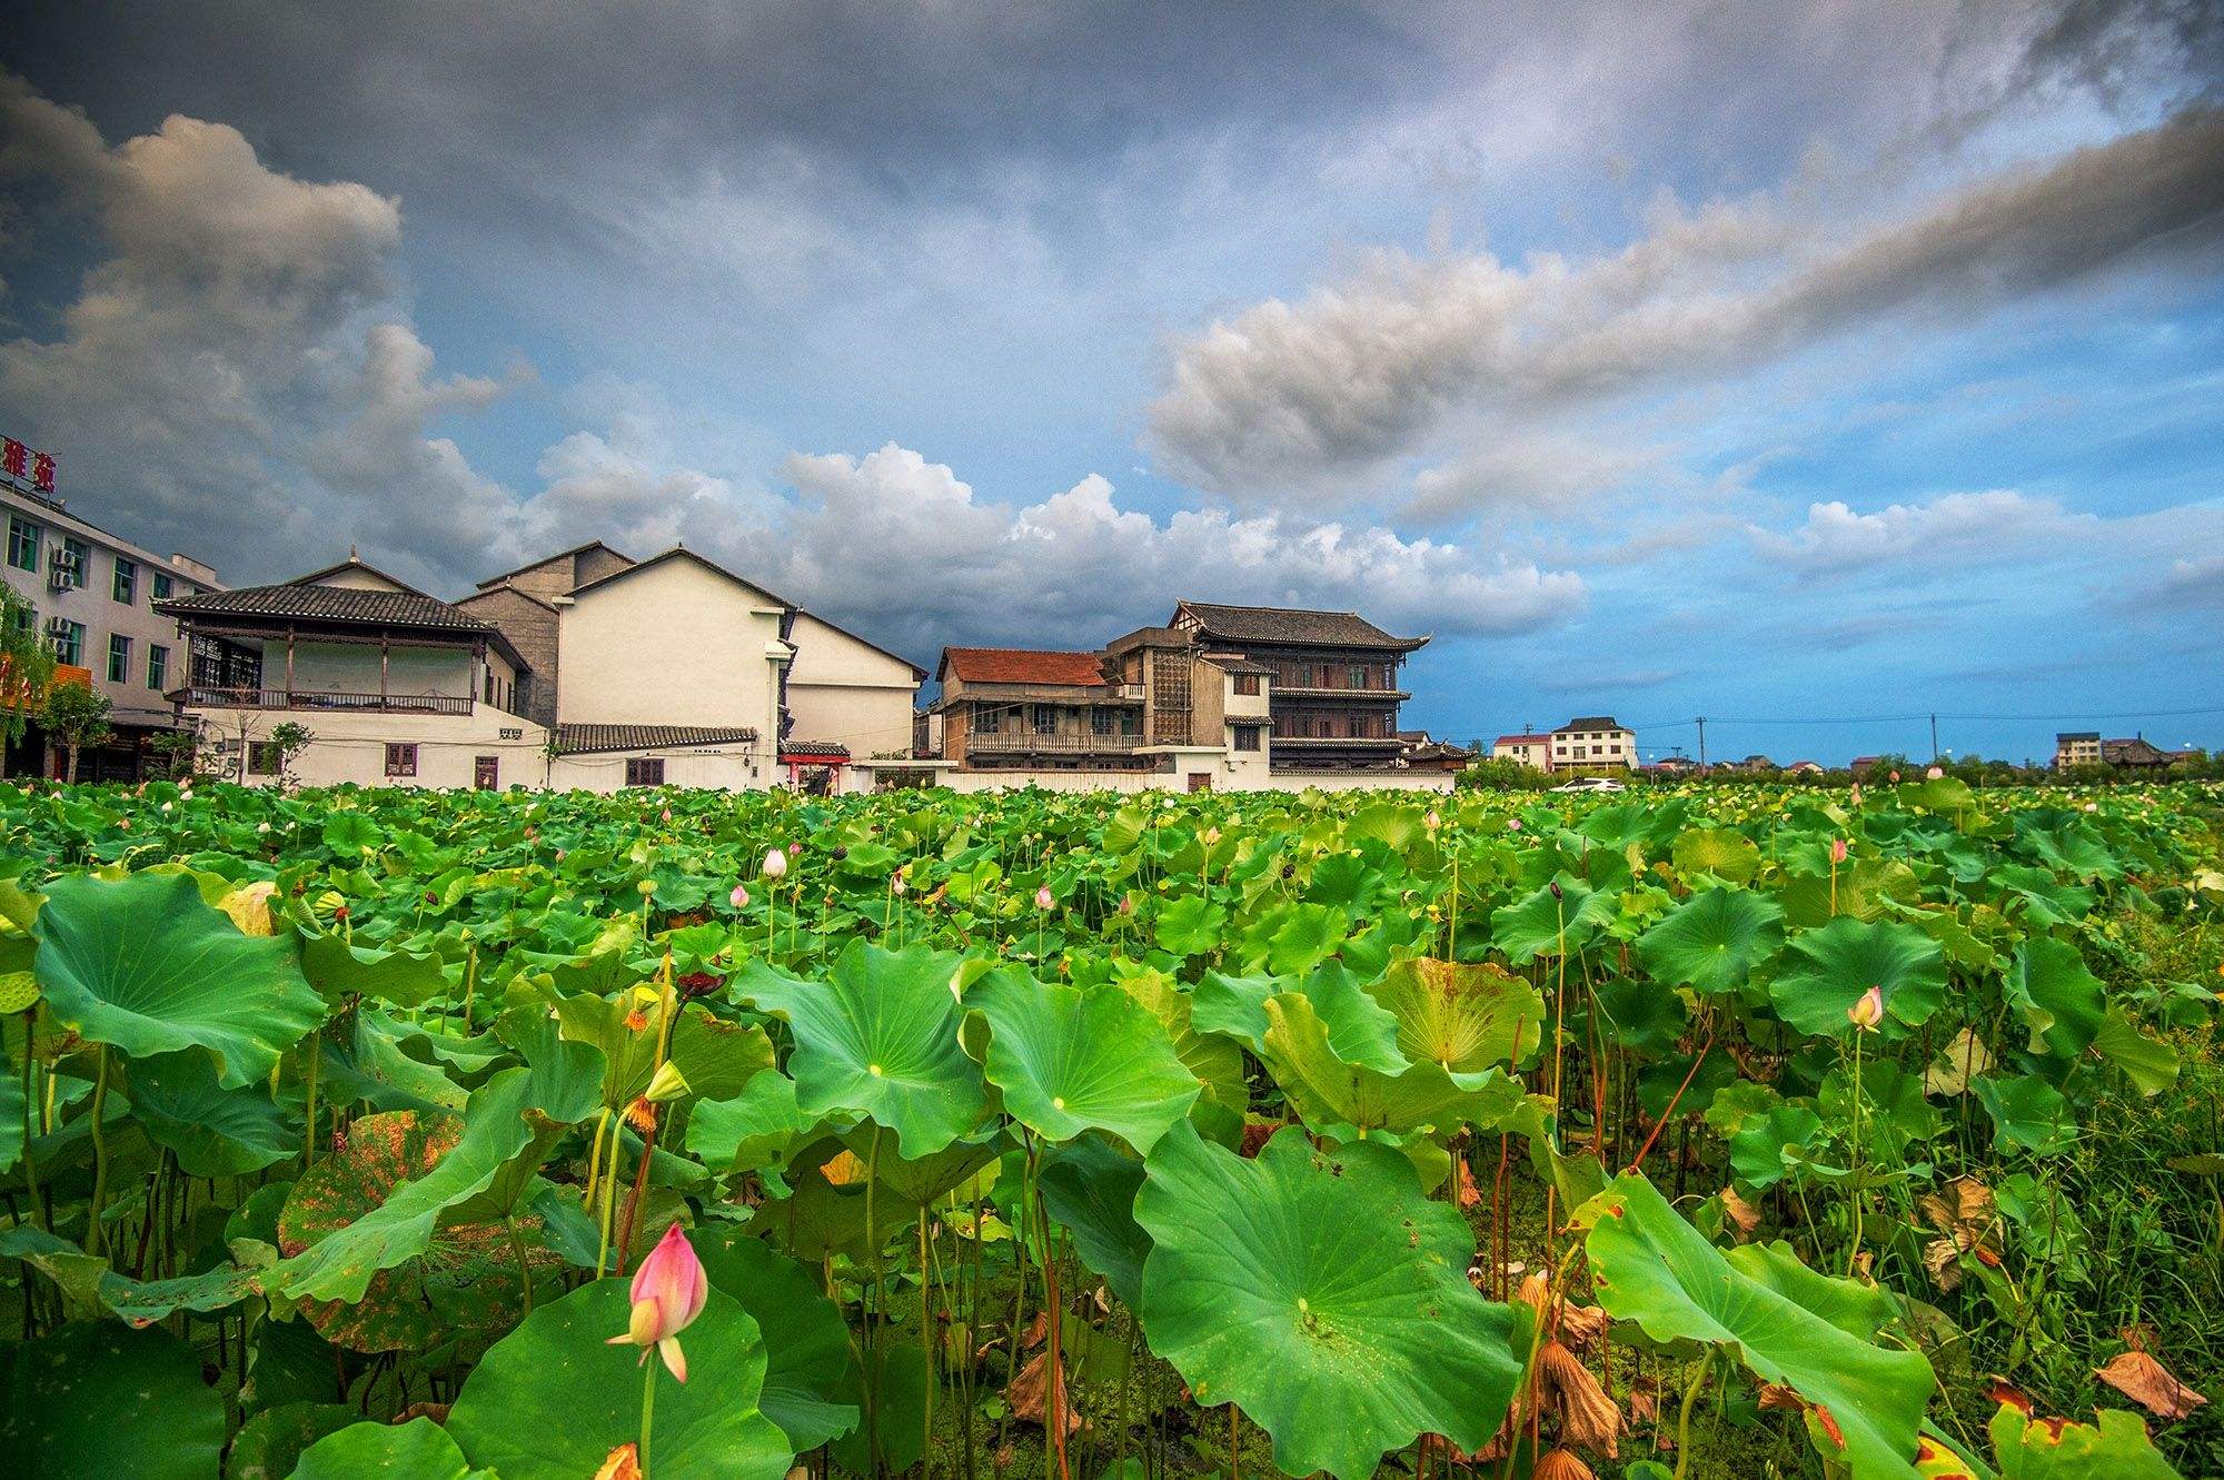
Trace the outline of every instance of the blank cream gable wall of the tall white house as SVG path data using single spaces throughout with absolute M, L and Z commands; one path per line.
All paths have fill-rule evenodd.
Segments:
M 563 609 L 569 724 L 747 724 L 770 758 L 781 733 L 783 607 L 687 558 L 636 567 Z

